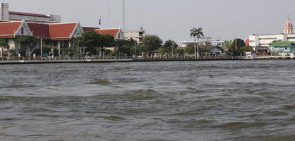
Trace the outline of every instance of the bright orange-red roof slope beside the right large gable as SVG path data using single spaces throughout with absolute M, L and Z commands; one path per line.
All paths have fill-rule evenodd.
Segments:
M 77 23 L 49 24 L 50 37 L 61 38 L 70 37 Z

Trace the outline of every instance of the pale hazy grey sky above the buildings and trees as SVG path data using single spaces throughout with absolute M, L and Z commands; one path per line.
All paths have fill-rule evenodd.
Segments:
M 9 3 L 10 11 L 52 13 L 62 22 L 80 20 L 83 26 L 108 27 L 108 0 L 0 0 Z M 110 27 L 122 25 L 122 0 L 109 0 Z M 287 15 L 295 24 L 294 0 L 125 0 L 126 29 L 144 27 L 148 34 L 164 40 L 193 40 L 192 27 L 203 27 L 213 39 L 246 39 L 253 34 L 283 31 Z

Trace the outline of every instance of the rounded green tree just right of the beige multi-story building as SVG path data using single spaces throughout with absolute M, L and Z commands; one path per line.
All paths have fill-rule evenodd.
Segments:
M 160 39 L 157 35 L 147 35 L 145 36 L 145 39 L 143 39 L 142 50 L 145 52 L 154 51 L 155 49 L 159 49 L 162 43 L 162 39 Z

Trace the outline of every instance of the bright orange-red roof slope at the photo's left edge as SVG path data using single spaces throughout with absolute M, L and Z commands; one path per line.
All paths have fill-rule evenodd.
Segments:
M 21 23 L 21 21 L 0 23 L 0 37 L 14 37 L 14 32 L 18 30 Z

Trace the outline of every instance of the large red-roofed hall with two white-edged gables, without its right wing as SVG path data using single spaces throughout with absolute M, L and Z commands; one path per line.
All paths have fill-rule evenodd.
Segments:
M 30 55 L 30 49 L 23 47 L 17 41 L 21 36 L 34 36 L 40 39 L 35 44 L 35 49 L 40 48 L 40 43 L 58 49 L 59 56 L 62 50 L 73 45 L 73 39 L 81 37 L 83 28 L 80 23 L 27 23 L 25 20 L 0 23 L 0 38 L 6 39 L 9 49 L 16 51 L 16 54 Z M 1 49 L 1 51 L 4 49 Z M 3 53 L 2 53 L 3 54 Z

